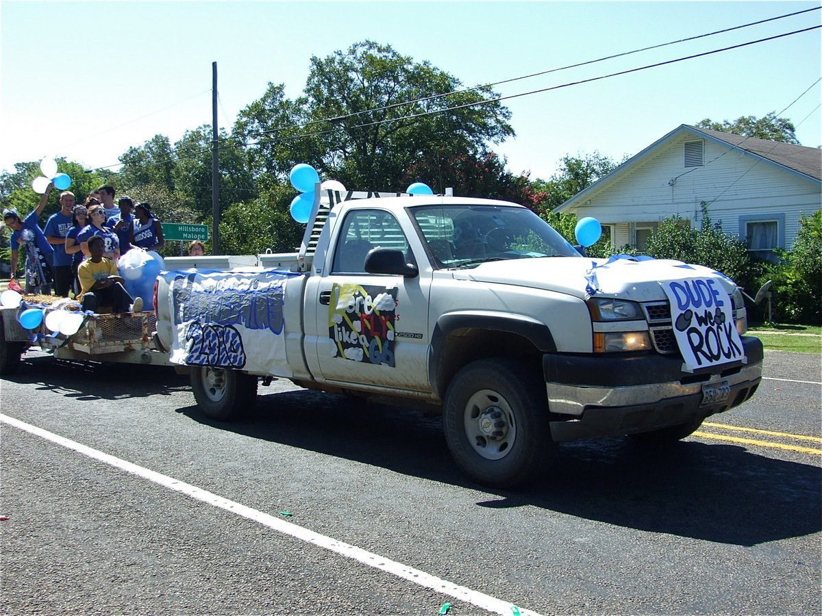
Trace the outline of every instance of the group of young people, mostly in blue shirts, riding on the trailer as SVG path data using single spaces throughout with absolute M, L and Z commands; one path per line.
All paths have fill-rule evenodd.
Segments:
M 39 218 L 53 188 L 49 183 L 25 218 L 14 209 L 3 210 L 3 223 L 12 231 L 12 283 L 23 251 L 25 292 L 51 295 L 53 287 L 58 296 L 73 292 L 83 310 L 141 311 L 143 300 L 131 297 L 123 287 L 117 261 L 130 250 L 163 247 L 163 228 L 151 215 L 151 205 L 135 205 L 127 196 L 114 205 L 114 187 L 109 184 L 92 192 L 82 205 L 76 204 L 74 193 L 62 191 L 60 211 L 40 229 Z

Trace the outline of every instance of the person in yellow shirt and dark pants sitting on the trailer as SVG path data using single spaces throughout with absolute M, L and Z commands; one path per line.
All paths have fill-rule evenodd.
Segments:
M 93 235 L 88 241 L 91 256 L 77 269 L 82 289 L 81 301 L 83 310 L 96 312 L 99 308 L 111 308 L 115 315 L 124 312 L 140 312 L 143 309 L 141 297 L 132 296 L 122 286 L 125 281 L 117 270 L 114 261 L 104 257 L 104 240 Z

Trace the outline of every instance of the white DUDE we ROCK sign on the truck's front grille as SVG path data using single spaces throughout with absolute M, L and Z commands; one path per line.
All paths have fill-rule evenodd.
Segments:
M 745 357 L 731 298 L 718 278 L 688 278 L 662 285 L 671 302 L 673 332 L 688 370 Z

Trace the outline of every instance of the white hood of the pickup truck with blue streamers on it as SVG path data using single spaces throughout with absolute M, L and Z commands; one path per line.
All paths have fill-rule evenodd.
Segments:
M 605 295 L 634 301 L 667 299 L 660 283 L 670 280 L 718 278 L 728 294 L 735 287 L 730 278 L 702 265 L 648 257 L 637 260 L 625 255 L 612 257 L 610 260 L 545 257 L 491 261 L 480 264 L 475 269 L 456 269 L 454 278 L 540 288 L 580 299 Z

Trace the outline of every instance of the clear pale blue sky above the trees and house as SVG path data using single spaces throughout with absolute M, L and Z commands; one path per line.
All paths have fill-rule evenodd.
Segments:
M 155 134 L 219 124 L 268 82 L 294 98 L 312 55 L 363 39 L 479 85 L 819 7 L 819 2 L 0 2 L 0 170 L 44 155 L 99 168 Z M 503 95 L 606 75 L 820 24 L 769 24 L 498 85 Z M 820 78 L 820 30 L 506 101 L 513 172 L 550 177 L 564 154 L 621 159 L 680 124 L 763 116 Z M 783 115 L 822 143 L 820 85 Z M 800 124 L 801 122 L 801 124 Z M 300 161 L 294 161 L 298 163 Z M 115 167 L 116 168 L 116 167 Z M 424 180 L 425 178 L 420 178 Z M 395 186 L 352 186 L 395 189 Z

